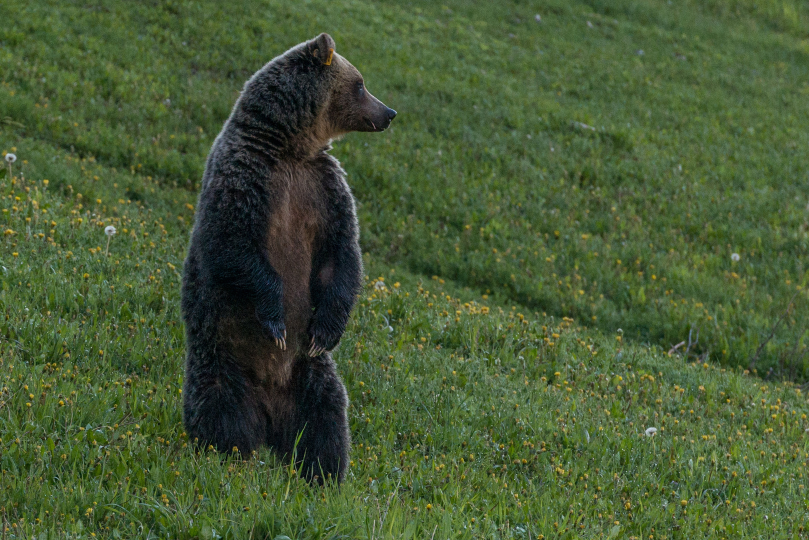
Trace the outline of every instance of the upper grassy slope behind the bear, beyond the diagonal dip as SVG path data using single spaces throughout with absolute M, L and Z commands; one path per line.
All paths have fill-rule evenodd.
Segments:
M 244 79 L 328 29 L 400 110 L 335 149 L 369 252 L 748 367 L 807 281 L 803 6 L 466 3 L 19 3 L 0 113 L 193 185 Z M 797 301 L 756 368 L 803 376 Z

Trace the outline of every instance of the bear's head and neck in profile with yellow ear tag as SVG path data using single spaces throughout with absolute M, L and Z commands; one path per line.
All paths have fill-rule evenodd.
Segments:
M 270 135 L 276 146 L 323 147 L 350 131 L 386 130 L 396 111 L 334 49 L 323 33 L 273 58 L 244 85 L 235 119 Z

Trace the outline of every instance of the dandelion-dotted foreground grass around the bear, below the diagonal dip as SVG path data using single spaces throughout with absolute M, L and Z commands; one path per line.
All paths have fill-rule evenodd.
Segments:
M 0 183 L 9 538 L 802 538 L 809 407 L 793 386 L 521 322 L 374 260 L 337 351 L 354 436 L 341 490 L 267 451 L 195 454 L 172 267 L 188 193 L 147 184 L 128 202 L 129 173 L 2 142 L 28 157 L 26 181 Z

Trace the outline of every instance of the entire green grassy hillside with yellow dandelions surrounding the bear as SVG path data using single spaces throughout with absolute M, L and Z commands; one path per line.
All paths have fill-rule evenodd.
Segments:
M 803 3 L 3 15 L 4 540 L 807 536 Z M 179 407 L 206 152 L 322 31 L 399 111 L 333 151 L 367 274 L 339 489 L 196 453 Z

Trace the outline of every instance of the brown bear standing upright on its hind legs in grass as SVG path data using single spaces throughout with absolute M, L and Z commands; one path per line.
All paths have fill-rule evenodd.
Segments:
M 395 116 L 328 34 L 245 83 L 205 164 L 184 266 L 184 423 L 203 447 L 296 449 L 307 478 L 343 478 L 348 398 L 328 351 L 362 258 L 354 198 L 328 151 Z

